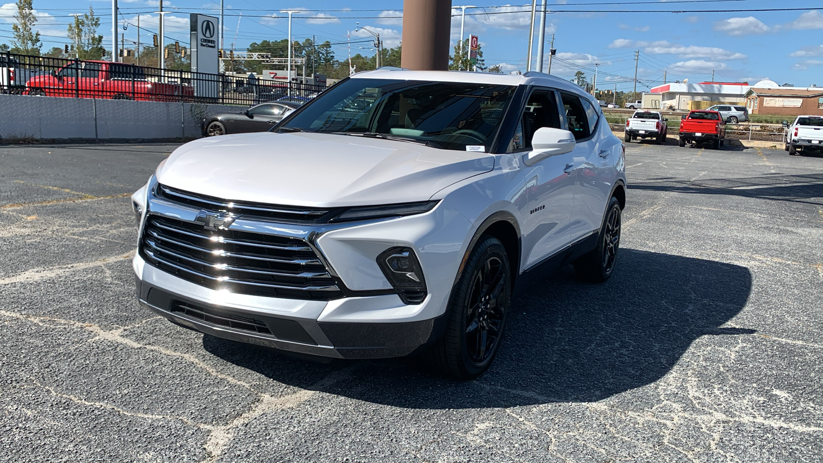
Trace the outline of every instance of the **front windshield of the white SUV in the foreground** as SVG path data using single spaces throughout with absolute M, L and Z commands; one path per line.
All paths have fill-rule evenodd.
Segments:
M 513 86 L 353 78 L 332 87 L 278 127 L 391 138 L 486 152 Z

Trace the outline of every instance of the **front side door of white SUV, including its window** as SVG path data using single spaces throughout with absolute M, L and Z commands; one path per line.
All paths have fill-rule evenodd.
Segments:
M 561 126 L 556 91 L 536 88 L 528 98 L 515 138 L 521 140 L 525 154 L 532 149 L 532 136 L 537 129 Z M 521 232 L 527 267 L 562 250 L 569 242 L 573 169 L 571 153 L 546 157 L 532 166 L 523 164 L 527 205 L 523 209 Z

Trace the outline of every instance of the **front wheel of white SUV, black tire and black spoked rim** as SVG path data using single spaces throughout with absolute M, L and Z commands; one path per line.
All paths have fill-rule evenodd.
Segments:
M 511 300 L 509 256 L 494 236 L 481 236 L 452 289 L 443 338 L 430 350 L 440 372 L 455 379 L 480 376 L 503 337 Z

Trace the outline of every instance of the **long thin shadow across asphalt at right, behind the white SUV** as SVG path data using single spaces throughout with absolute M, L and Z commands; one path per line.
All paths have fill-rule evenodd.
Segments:
M 821 204 L 823 174 L 760 175 L 731 179 L 653 179 L 632 183 L 629 189 L 691 194 L 726 194 L 743 198 Z

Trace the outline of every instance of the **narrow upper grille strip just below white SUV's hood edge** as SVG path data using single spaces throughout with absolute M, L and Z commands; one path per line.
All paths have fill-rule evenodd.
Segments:
M 337 208 L 295 208 L 249 201 L 230 201 L 157 185 L 156 195 L 192 208 L 220 211 L 276 222 L 325 223 L 340 212 Z

